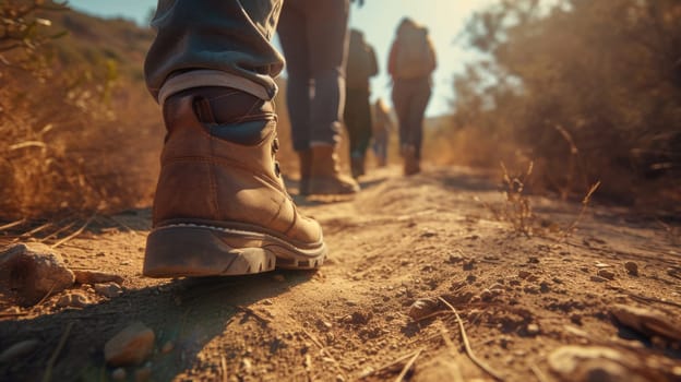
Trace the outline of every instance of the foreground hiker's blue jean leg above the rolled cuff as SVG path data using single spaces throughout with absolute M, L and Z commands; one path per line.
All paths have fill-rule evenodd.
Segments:
M 270 41 L 280 7 L 280 0 L 159 0 L 144 63 L 150 92 L 157 97 L 171 74 L 207 69 L 260 84 L 274 97 L 284 60 Z

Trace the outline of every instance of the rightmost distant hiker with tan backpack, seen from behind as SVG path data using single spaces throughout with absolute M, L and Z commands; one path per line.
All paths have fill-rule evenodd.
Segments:
M 435 50 L 428 29 L 405 17 L 397 27 L 387 71 L 393 77 L 393 105 L 399 122 L 404 174 L 420 171 L 423 114 L 431 95 Z

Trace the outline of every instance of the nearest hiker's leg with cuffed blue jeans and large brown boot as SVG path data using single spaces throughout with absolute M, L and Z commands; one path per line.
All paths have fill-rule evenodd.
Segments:
M 284 59 L 271 40 L 280 5 L 158 1 L 144 71 L 166 138 L 144 275 L 309 270 L 326 258 L 320 225 L 298 212 L 275 160 L 272 99 Z

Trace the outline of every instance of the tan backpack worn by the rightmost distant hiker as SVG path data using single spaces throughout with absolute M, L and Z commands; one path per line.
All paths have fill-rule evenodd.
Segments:
M 426 28 L 409 28 L 397 38 L 395 77 L 418 79 L 429 75 L 435 67 L 431 43 Z

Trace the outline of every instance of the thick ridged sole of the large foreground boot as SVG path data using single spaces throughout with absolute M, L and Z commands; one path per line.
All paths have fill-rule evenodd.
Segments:
M 148 235 L 142 273 L 156 278 L 236 276 L 275 267 L 314 270 L 325 259 L 323 242 L 300 249 L 267 234 L 178 224 Z

